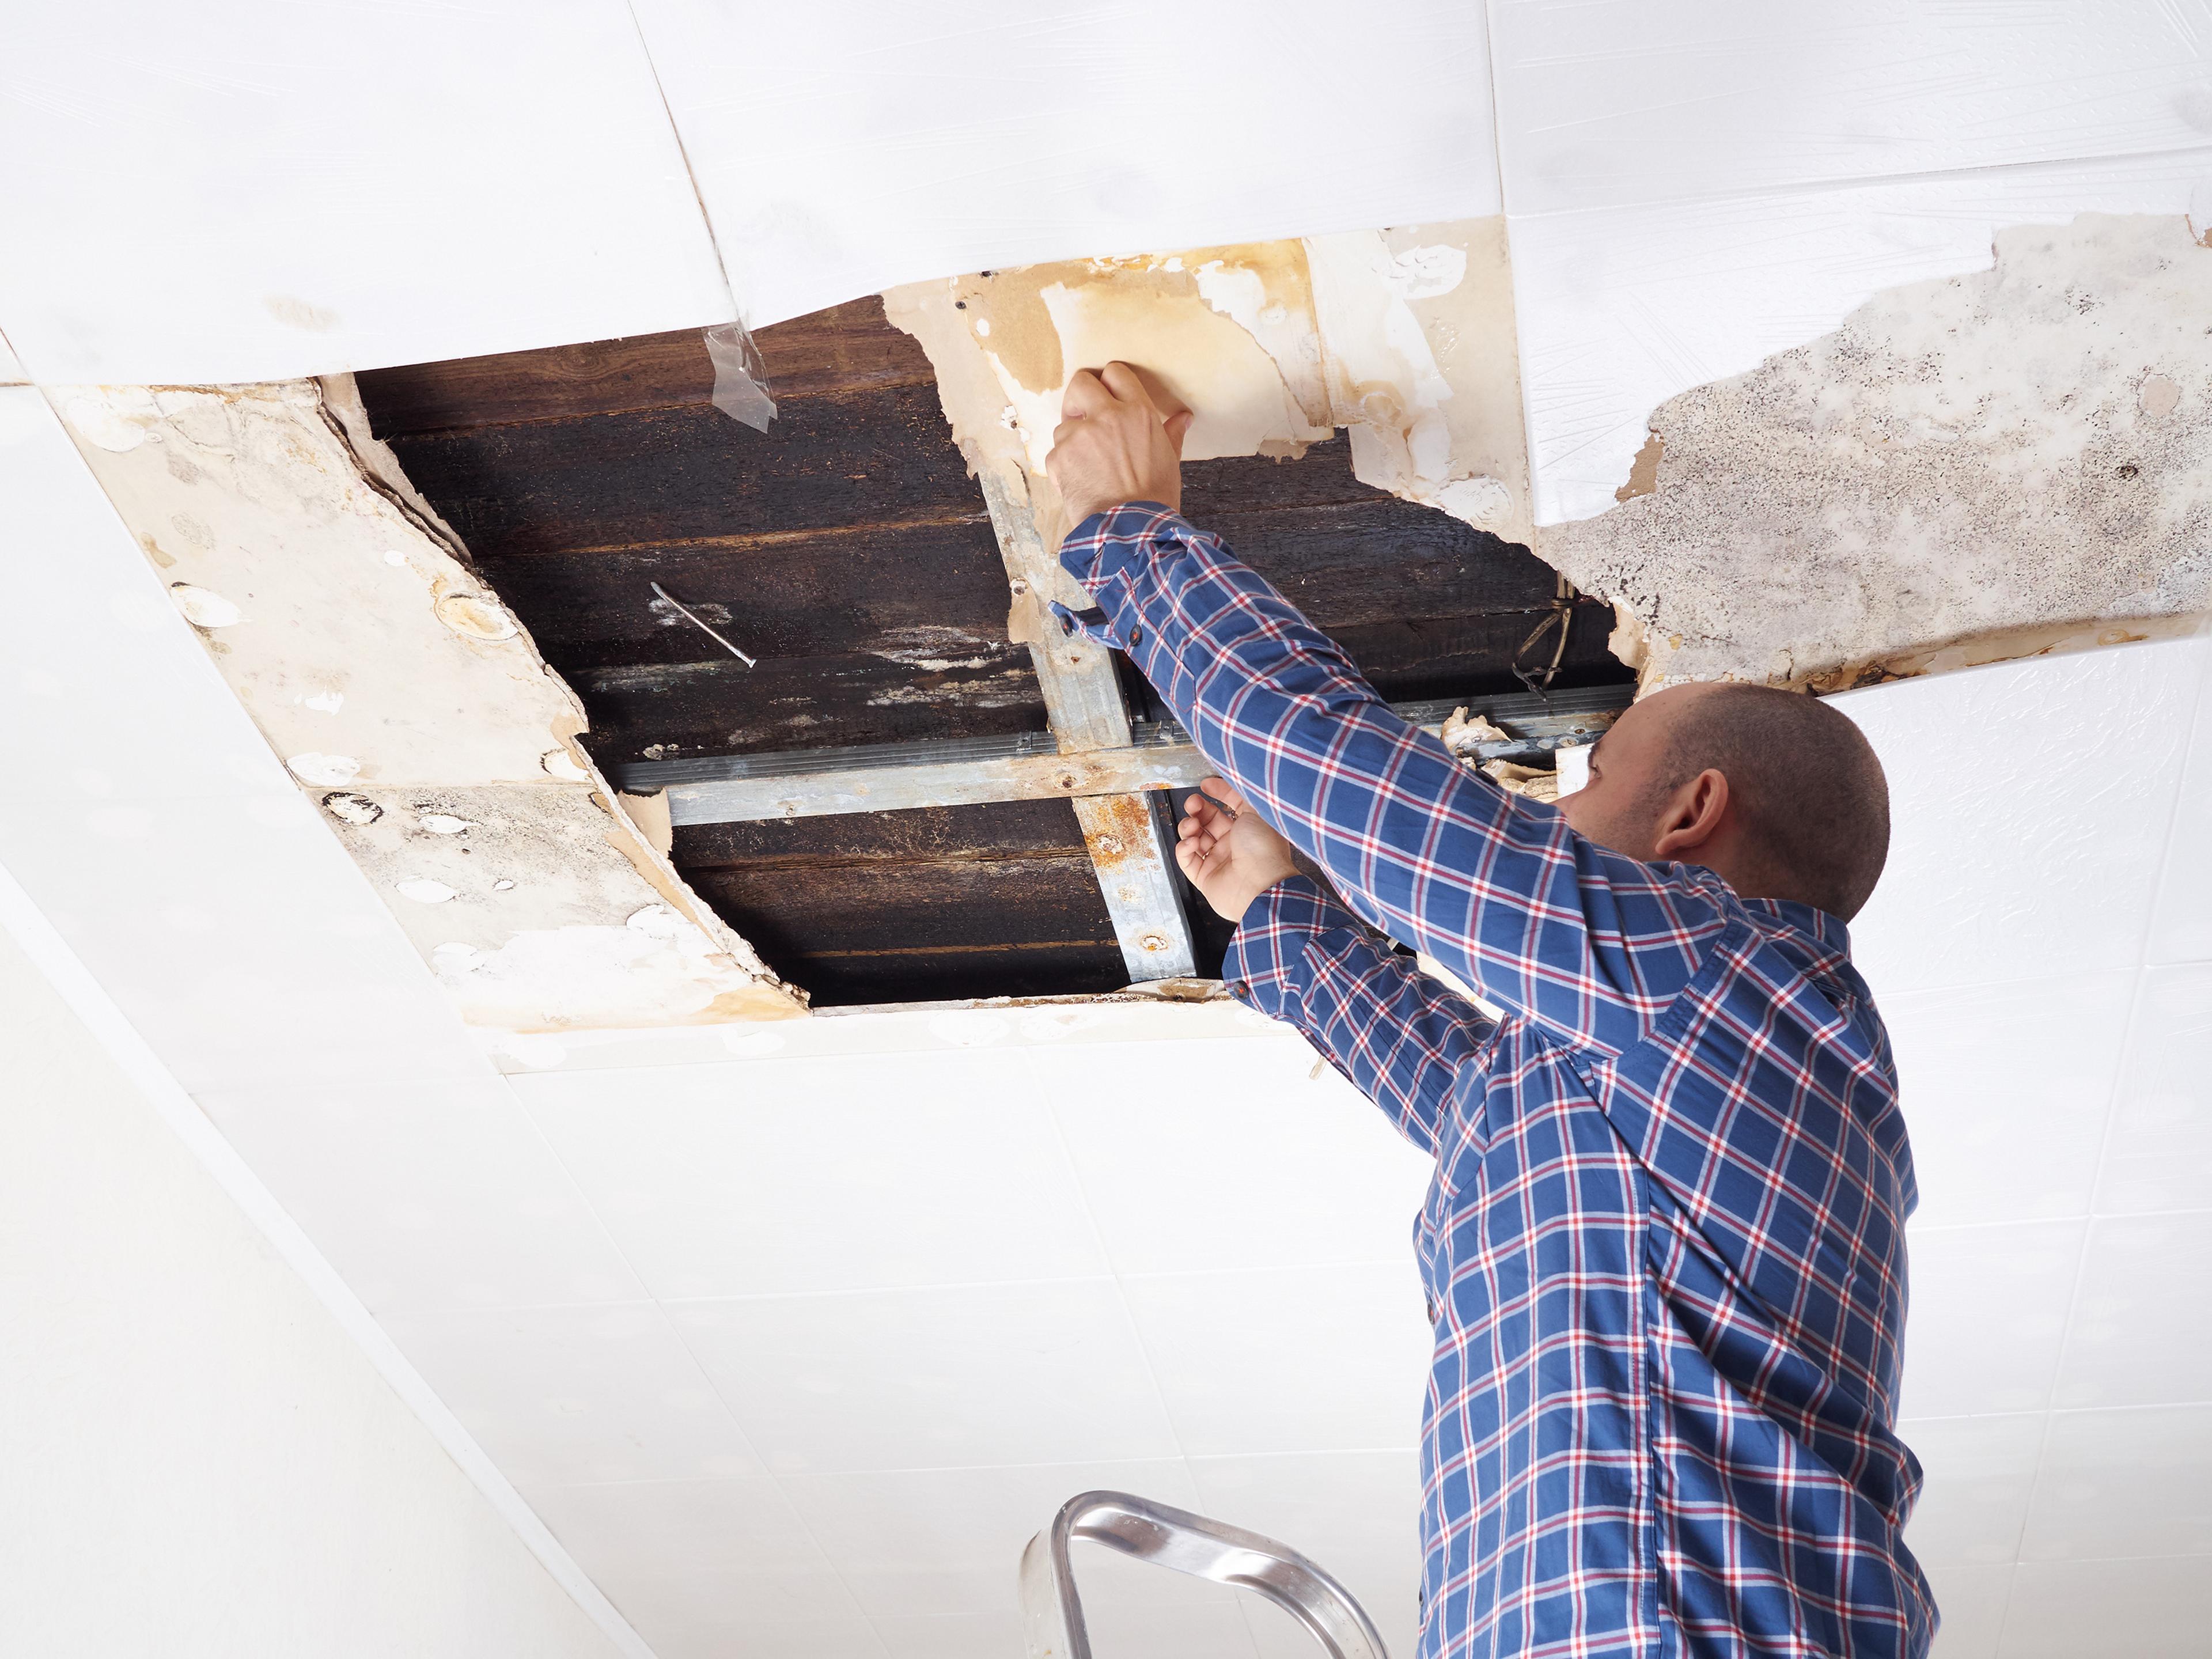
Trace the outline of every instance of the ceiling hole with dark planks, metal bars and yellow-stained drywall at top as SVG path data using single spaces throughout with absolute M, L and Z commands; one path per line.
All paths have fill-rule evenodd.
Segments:
M 695 332 L 358 389 L 593 759 L 670 803 L 675 865 L 776 973 L 818 1006 L 1119 991 L 1212 973 L 1225 929 L 1166 856 L 1159 785 L 1197 757 L 1126 664 L 1033 626 L 1064 595 L 1035 434 L 1093 354 L 1172 347 L 1214 411 L 1188 511 L 1387 697 L 1440 721 L 1533 681 L 1537 723 L 1584 730 L 1619 703 L 1559 701 L 1626 684 L 1610 613 L 1467 522 L 1526 535 L 1526 467 L 1502 230 L 1444 234 L 1327 239 L 1334 290 L 1323 243 L 1270 243 L 841 305 L 761 332 L 768 431 L 714 407 Z

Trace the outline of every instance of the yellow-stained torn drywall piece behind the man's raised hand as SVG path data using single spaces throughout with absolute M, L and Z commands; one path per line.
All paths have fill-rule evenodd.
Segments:
M 1365 482 L 1528 535 L 1504 219 L 982 272 L 885 310 L 929 352 L 971 465 L 1026 476 L 1048 544 L 1062 394 L 1113 358 L 1192 407 L 1190 460 L 1296 456 L 1347 427 Z

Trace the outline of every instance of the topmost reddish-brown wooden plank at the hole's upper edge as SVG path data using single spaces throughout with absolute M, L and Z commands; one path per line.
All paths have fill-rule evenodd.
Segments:
M 776 400 L 936 383 L 922 347 L 885 321 L 876 296 L 763 327 L 754 343 Z M 354 380 L 378 438 L 672 409 L 714 396 L 714 365 L 697 327 L 367 369 Z

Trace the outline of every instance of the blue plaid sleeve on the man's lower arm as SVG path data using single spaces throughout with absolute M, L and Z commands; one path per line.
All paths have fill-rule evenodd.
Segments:
M 1221 978 L 1239 1002 L 1305 1033 L 1425 1152 L 1436 1152 L 1453 1079 L 1498 1029 L 1305 876 L 1252 900 Z

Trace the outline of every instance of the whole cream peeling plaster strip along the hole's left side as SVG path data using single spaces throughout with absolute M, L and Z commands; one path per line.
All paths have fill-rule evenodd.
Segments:
M 805 1011 L 615 805 L 573 741 L 582 703 L 367 438 L 349 380 L 53 400 L 223 679 L 469 1022 Z

